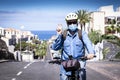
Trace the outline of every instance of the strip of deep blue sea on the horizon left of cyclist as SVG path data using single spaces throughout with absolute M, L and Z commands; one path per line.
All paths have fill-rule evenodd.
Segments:
M 49 40 L 56 31 L 31 31 L 32 34 L 37 35 L 40 40 Z

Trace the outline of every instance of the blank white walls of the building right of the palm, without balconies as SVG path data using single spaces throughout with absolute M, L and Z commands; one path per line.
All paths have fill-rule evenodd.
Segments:
M 91 14 L 92 21 L 90 22 L 90 28 L 93 30 L 100 30 L 102 34 L 105 33 L 105 17 L 120 17 L 120 7 L 117 11 L 114 11 L 113 5 L 102 6 L 99 11 Z

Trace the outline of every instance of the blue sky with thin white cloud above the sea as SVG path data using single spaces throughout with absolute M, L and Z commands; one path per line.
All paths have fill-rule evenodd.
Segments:
M 0 27 L 23 30 L 56 30 L 66 27 L 65 16 L 78 10 L 97 11 L 120 6 L 120 0 L 0 0 Z

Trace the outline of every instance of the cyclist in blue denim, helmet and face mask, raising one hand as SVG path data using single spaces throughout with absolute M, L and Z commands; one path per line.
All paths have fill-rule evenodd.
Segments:
M 85 31 L 81 32 L 82 39 L 79 39 L 78 34 L 78 15 L 76 13 L 69 13 L 66 18 L 67 23 L 67 33 L 66 38 L 63 38 L 62 27 L 57 27 L 58 36 L 53 42 L 51 48 L 53 50 L 62 49 L 61 58 L 62 60 L 68 60 L 71 55 L 74 59 L 79 59 L 80 57 L 85 56 L 85 48 L 88 51 L 87 58 L 92 59 L 94 57 L 95 51 L 92 47 L 92 43 L 88 38 L 88 35 Z M 68 54 L 68 55 L 67 55 Z M 86 80 L 86 60 L 79 60 L 80 70 L 78 70 L 78 75 L 80 80 Z M 66 71 L 63 66 L 60 66 L 60 80 L 67 80 L 67 75 L 70 75 L 71 72 Z

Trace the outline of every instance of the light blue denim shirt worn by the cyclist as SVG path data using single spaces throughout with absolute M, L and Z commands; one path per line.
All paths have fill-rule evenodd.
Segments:
M 67 31 L 66 39 L 64 40 L 62 35 L 58 35 L 57 39 L 52 44 L 52 49 L 59 50 L 62 48 L 63 60 L 67 60 L 68 55 L 72 55 L 73 58 L 80 58 L 84 56 L 85 48 L 87 49 L 88 53 L 95 54 L 92 43 L 85 31 L 82 31 L 82 40 L 83 42 L 79 39 L 79 34 L 77 31 L 74 35 L 71 35 L 70 32 Z

